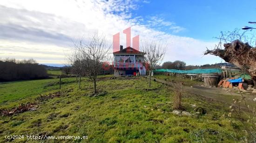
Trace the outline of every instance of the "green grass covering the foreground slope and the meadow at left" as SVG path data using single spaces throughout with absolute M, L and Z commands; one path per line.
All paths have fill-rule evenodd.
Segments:
M 148 90 L 148 79 L 109 79 L 110 76 L 98 79 L 97 90 L 104 94 L 97 97 L 88 96 L 93 82 L 86 78 L 82 79 L 81 90 L 75 78 L 63 78 L 61 90 L 58 79 L 0 84 L 1 108 L 32 102 L 40 93 L 61 92 L 60 97 L 41 100 L 36 111 L 0 117 L 0 141 L 9 141 L 5 135 L 33 134 L 88 136 L 87 140 L 46 140 L 49 143 L 233 143 L 243 135 L 238 134 L 241 124 L 231 124 L 229 118 L 222 116 L 228 105 L 184 93 L 184 110 L 195 113 L 191 105 L 196 104 L 207 113 L 178 116 L 171 113 L 174 94 L 169 87 L 152 81 L 150 89 L 154 90 Z M 13 140 L 26 141 L 33 140 Z

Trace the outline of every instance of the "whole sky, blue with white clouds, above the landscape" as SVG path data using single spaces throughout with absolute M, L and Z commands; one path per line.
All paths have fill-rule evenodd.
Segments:
M 33 58 L 39 63 L 67 63 L 77 39 L 113 35 L 131 26 L 140 41 L 161 39 L 168 45 L 163 62 L 187 65 L 224 62 L 203 52 L 214 48 L 220 31 L 256 21 L 254 0 L 1 0 L 0 59 Z

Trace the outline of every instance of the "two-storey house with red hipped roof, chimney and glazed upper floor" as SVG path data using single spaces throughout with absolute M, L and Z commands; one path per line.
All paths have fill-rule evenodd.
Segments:
M 146 68 L 143 65 L 144 55 L 146 53 L 135 50 L 131 47 L 123 49 L 120 45 L 120 50 L 113 52 L 114 54 L 114 75 L 146 75 Z

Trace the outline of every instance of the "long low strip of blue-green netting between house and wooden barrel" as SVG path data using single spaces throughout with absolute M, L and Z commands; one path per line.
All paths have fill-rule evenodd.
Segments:
M 156 69 L 155 72 L 168 72 L 179 74 L 213 74 L 222 73 L 222 69 L 219 68 L 206 68 L 206 69 L 191 69 L 191 70 L 177 70 L 177 69 Z

